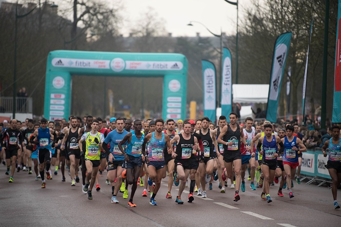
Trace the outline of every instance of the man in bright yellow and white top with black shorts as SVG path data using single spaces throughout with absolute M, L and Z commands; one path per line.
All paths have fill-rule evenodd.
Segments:
M 88 120 L 88 118 L 87 118 Z M 78 147 L 80 148 L 80 154 L 82 155 L 83 151 L 83 142 L 85 141 L 86 150 L 84 154 L 85 165 L 87 170 L 86 182 L 83 188 L 84 191 L 88 193 L 88 199 L 92 200 L 92 189 L 95 184 L 97 172 L 100 165 L 100 153 L 103 149 L 102 143 L 104 141 L 104 135 L 100 132 L 97 132 L 98 128 L 98 120 L 94 119 L 91 123 L 91 131 L 86 132 L 82 135 L 79 140 Z

